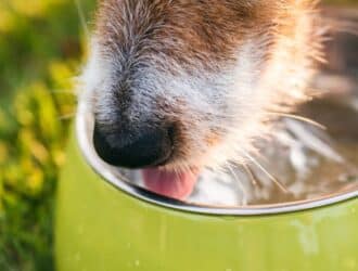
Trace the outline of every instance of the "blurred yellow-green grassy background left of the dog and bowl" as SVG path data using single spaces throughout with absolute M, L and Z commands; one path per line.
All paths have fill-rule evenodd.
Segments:
M 0 0 L 0 270 L 53 270 L 56 180 L 94 8 Z

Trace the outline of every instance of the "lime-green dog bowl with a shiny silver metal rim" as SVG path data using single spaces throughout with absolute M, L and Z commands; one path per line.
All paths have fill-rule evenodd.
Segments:
M 88 121 L 79 114 L 60 182 L 59 271 L 358 270 L 357 190 L 252 208 L 168 201 L 111 173 Z

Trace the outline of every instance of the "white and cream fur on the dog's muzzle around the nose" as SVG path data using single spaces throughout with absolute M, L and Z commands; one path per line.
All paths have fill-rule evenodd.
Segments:
M 118 36 L 120 31 L 130 41 L 140 40 L 129 27 L 135 14 L 129 11 L 124 14 L 128 25 L 122 27 L 110 22 L 107 28 Z M 108 50 L 98 42 L 99 37 L 93 37 L 79 99 L 90 104 L 97 122 L 111 126 L 115 119 L 114 91 L 120 81 L 118 75 L 130 65 L 145 63 L 130 78 L 136 90 L 127 115 L 133 126 L 153 115 L 180 121 L 183 140 L 176 146 L 180 149 L 180 155 L 165 167 L 171 170 L 205 167 L 220 169 L 220 172 L 232 171 L 232 165 L 248 164 L 258 156 L 256 147 L 259 142 L 273 134 L 271 131 L 278 119 L 276 113 L 290 109 L 307 98 L 306 88 L 314 74 L 312 59 L 318 54 L 310 40 L 315 36 L 310 14 L 297 17 L 297 29 L 292 29 L 294 37 L 276 34 L 274 48 L 270 49 L 269 56 L 265 52 L 270 37 L 252 36 L 240 44 L 233 55 L 234 62 L 216 63 L 207 59 L 205 65 L 212 66 L 210 70 L 196 63 L 190 73 L 161 52 L 156 55 L 137 52 L 136 57 L 126 59 L 118 46 Z M 169 39 L 166 42 L 168 47 L 176 47 L 180 41 Z M 166 68 L 170 70 L 159 72 Z M 158 100 L 165 101 L 172 111 L 158 109 Z M 208 143 L 213 137 L 216 139 Z M 294 145 L 293 155 L 298 157 L 302 146 Z M 303 168 L 304 164 L 295 166 Z

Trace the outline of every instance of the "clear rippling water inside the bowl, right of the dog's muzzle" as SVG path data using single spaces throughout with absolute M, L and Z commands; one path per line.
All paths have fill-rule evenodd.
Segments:
M 187 202 L 247 207 L 357 191 L 358 50 L 354 48 L 358 37 L 351 35 L 337 35 L 327 44 L 328 64 L 312 83 L 323 94 L 295 113 L 327 130 L 283 117 L 274 137 L 260 143 L 260 157 L 220 172 L 204 171 Z

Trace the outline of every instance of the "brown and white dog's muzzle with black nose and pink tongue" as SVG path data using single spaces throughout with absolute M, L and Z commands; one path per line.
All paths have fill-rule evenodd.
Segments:
M 323 39 L 314 0 L 100 1 L 79 96 L 98 155 L 186 199 L 312 96 Z

